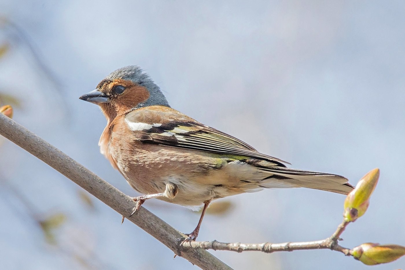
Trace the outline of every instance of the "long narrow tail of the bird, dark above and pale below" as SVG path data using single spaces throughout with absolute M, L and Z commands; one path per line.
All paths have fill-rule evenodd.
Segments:
M 306 187 L 340 194 L 347 194 L 354 189 L 354 186 L 349 184 L 346 178 L 337 174 L 303 171 L 286 167 L 261 167 L 260 170 L 271 173 L 270 176 L 261 181 L 260 187 Z

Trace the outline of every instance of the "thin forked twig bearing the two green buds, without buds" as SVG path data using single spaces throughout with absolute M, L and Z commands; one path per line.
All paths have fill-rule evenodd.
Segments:
M 190 249 L 213 249 L 213 250 L 227 250 L 227 251 L 262 251 L 265 253 L 272 253 L 275 251 L 294 251 L 304 249 L 331 249 L 339 251 L 346 256 L 352 255 L 350 249 L 344 248 L 337 244 L 340 236 L 345 230 L 348 222 L 343 221 L 332 234 L 332 236 L 318 241 L 308 242 L 285 242 L 285 243 L 259 243 L 259 244 L 243 244 L 243 243 L 224 243 L 213 241 L 194 241 L 184 242 L 181 244 L 182 250 Z

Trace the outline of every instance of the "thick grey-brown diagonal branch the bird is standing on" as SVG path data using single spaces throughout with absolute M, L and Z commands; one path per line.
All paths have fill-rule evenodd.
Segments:
M 138 225 L 148 234 L 162 242 L 176 255 L 184 257 L 192 264 L 203 269 L 231 269 L 217 257 L 203 249 L 180 251 L 180 243 L 187 236 L 177 231 L 145 208 L 141 207 L 139 211 L 129 217 L 132 208 L 135 206 L 134 201 L 130 197 L 3 114 L 0 114 L 0 135 L 13 141 L 21 148 L 27 150 L 38 159 L 59 171 L 96 198 L 100 199 L 104 204 L 107 204 L 113 208 L 113 210 L 125 216 L 129 221 Z

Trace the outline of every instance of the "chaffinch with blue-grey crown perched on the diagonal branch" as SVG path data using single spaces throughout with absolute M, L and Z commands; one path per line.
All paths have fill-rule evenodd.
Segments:
M 204 205 L 187 240 L 198 236 L 213 199 L 263 188 L 307 187 L 341 194 L 353 189 L 342 176 L 287 168 L 283 163 L 288 162 L 172 109 L 138 66 L 117 69 L 80 99 L 99 105 L 107 118 L 100 152 L 130 186 L 146 194 L 133 198 L 134 211 L 150 198 Z

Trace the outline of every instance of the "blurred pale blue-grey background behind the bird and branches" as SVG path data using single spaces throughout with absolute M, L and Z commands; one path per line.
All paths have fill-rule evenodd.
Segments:
M 99 153 L 100 109 L 78 97 L 138 64 L 173 108 L 292 167 L 352 184 L 379 167 L 371 206 L 341 244 L 404 245 L 404 48 L 403 1 L 1 0 L 0 105 L 136 196 Z M 1 269 L 197 268 L 4 138 L 0 153 Z M 310 189 L 228 197 L 210 208 L 198 239 L 326 238 L 343 200 Z M 156 199 L 144 206 L 185 233 L 199 218 Z M 369 269 L 328 250 L 213 253 L 236 269 Z

